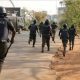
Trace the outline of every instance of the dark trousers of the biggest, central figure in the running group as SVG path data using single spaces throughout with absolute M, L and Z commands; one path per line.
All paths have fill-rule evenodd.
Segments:
M 50 35 L 42 35 L 42 52 L 44 52 L 45 44 L 47 44 L 48 51 L 50 50 Z

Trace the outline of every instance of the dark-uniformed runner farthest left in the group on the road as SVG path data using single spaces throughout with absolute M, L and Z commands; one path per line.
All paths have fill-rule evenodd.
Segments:
M 29 36 L 28 43 L 30 44 L 30 42 L 33 40 L 33 47 L 35 47 L 36 31 L 38 32 L 38 28 L 37 28 L 37 25 L 36 25 L 36 20 L 33 21 L 33 23 L 28 27 L 28 29 L 30 30 L 30 36 Z

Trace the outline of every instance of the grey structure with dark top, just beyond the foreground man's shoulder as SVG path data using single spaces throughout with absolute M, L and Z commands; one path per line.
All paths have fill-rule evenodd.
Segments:
M 12 21 L 16 31 L 18 27 L 24 28 L 24 18 L 21 16 L 21 9 L 19 7 L 6 7 L 7 17 Z

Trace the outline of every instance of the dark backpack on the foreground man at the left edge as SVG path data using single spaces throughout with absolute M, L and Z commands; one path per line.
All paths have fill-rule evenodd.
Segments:
M 8 39 L 7 20 L 0 18 L 0 42 L 5 42 Z

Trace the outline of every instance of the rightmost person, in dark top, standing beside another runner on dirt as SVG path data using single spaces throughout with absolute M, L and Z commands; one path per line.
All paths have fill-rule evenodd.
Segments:
M 68 32 L 69 32 L 69 50 L 73 50 L 75 36 L 77 35 L 74 25 L 71 25 Z

